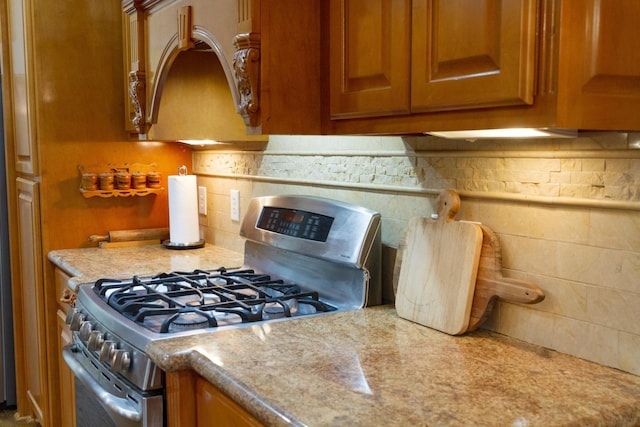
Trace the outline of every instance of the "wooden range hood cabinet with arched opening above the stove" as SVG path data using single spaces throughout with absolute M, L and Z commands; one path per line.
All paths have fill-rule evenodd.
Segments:
M 220 141 L 320 133 L 319 0 L 122 5 L 132 133 Z M 196 126 L 185 126 L 193 117 Z

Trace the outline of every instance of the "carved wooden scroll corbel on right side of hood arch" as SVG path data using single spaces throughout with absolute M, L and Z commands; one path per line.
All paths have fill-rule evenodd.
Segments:
M 238 34 L 233 39 L 236 53 L 233 55 L 238 92 L 239 113 L 247 126 L 259 125 L 260 84 L 260 35 Z

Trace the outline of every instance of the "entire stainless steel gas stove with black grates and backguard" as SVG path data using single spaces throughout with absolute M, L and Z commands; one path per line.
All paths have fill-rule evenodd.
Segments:
M 381 302 L 377 212 L 316 197 L 260 197 L 251 201 L 240 235 L 240 268 L 80 286 L 67 317 L 74 344 L 63 351 L 82 394 L 77 408 L 95 396 L 111 425 L 163 425 L 163 378 L 145 354 L 150 341 Z M 82 413 L 77 419 L 82 425 Z

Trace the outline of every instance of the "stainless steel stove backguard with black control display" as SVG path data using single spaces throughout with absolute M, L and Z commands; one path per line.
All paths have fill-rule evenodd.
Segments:
M 340 309 L 379 305 L 380 222 L 378 212 L 336 200 L 257 197 L 240 229 L 244 263 L 318 291 Z

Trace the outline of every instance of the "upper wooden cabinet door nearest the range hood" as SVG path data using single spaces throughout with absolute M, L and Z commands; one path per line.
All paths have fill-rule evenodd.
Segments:
M 410 0 L 331 0 L 331 117 L 407 114 Z

